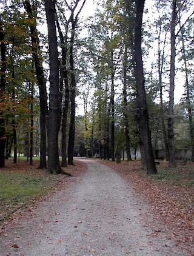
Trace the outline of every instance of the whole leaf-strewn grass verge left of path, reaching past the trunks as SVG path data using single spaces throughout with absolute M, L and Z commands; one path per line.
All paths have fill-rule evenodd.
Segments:
M 30 205 L 43 200 L 48 193 L 68 186 L 79 173 L 87 170 L 83 162 L 68 166 L 66 169 L 73 175 L 73 178 L 68 178 L 65 175 L 45 175 L 45 170 L 38 169 L 38 166 L 39 161 L 33 161 L 33 166 L 26 161 L 16 164 L 12 160 L 5 161 L 5 168 L 0 170 L 0 223 L 5 223 L 8 217 L 16 218 L 14 213 L 20 211 L 21 214 L 24 207 L 32 211 Z

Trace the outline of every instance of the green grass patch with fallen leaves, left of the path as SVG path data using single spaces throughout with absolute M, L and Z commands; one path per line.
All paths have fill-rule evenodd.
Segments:
M 32 204 L 46 195 L 62 178 L 60 175 L 45 175 L 45 170 L 36 169 L 39 162 L 29 166 L 24 160 L 12 164 L 6 161 L 0 170 L 0 222 L 23 206 Z

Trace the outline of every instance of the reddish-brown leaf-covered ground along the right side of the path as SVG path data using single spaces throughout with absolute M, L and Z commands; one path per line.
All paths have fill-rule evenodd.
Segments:
M 101 162 L 116 170 L 122 178 L 129 181 L 136 193 L 150 203 L 153 218 L 160 221 L 162 231 L 171 232 L 170 240 L 181 243 L 194 241 L 194 164 L 186 167 L 169 169 L 167 163 L 158 166 L 157 175 L 146 175 L 142 172 L 139 161 L 122 161 L 116 164 L 110 161 Z M 141 208 L 139 208 L 141 209 Z M 149 214 L 149 213 L 148 213 Z M 154 223 L 147 225 L 152 226 Z M 158 230 L 158 228 L 155 228 Z M 168 232 L 169 231 L 169 232 Z M 155 232 L 153 235 L 157 235 Z

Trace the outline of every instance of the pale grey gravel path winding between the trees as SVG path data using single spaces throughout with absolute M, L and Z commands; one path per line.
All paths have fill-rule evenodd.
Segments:
M 130 184 L 98 161 L 80 161 L 88 171 L 78 181 L 5 230 L 1 256 L 187 255 L 162 234 L 152 235 L 157 223 L 145 223 L 149 205 Z

